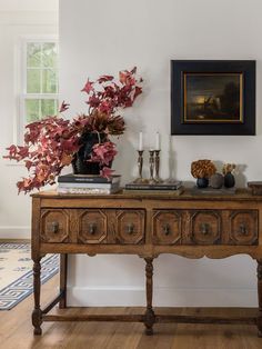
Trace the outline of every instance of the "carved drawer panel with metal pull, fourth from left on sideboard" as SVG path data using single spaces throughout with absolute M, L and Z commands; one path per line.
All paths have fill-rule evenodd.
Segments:
M 175 210 L 153 212 L 153 243 L 181 243 L 181 215 Z

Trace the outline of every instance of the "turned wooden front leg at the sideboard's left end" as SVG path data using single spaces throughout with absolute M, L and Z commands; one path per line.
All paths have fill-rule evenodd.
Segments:
M 41 323 L 42 323 L 42 311 L 40 309 L 40 272 L 41 272 L 41 265 L 40 260 L 33 260 L 33 297 L 34 297 L 34 309 L 32 311 L 32 325 L 34 327 L 33 335 L 41 335 Z

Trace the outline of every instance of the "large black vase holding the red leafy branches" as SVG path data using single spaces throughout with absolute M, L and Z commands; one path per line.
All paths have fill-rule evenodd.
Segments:
M 74 174 L 99 174 L 101 167 L 99 162 L 90 162 L 92 148 L 95 143 L 105 142 L 107 134 L 98 132 L 83 133 L 79 140 L 81 148 L 74 154 L 72 168 Z

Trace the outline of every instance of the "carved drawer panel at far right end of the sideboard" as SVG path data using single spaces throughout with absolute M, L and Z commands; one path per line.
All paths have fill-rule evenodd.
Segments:
M 230 242 L 233 245 L 259 243 L 259 215 L 256 210 L 231 212 Z

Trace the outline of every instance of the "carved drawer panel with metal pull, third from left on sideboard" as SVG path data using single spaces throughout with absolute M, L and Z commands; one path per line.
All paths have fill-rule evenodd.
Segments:
M 143 210 L 119 210 L 117 212 L 117 242 L 143 243 L 144 219 L 145 213 Z

